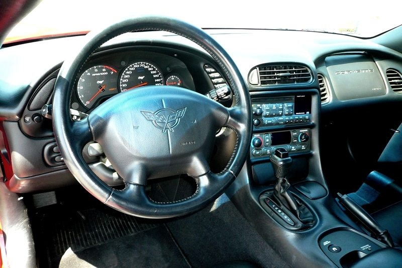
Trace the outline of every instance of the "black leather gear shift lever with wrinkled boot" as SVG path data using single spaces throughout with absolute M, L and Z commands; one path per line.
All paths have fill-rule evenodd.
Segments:
M 274 201 L 276 201 L 279 207 L 285 206 L 297 218 L 300 218 L 298 205 L 293 196 L 287 192 L 290 184 L 286 179 L 286 175 L 292 165 L 292 159 L 289 157 L 289 153 L 283 148 L 278 148 L 271 154 L 269 159 L 272 162 L 276 177 L 276 184 L 273 190 Z

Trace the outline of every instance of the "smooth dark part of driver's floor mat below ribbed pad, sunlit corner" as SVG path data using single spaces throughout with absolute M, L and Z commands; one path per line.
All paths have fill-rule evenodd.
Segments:
M 161 225 L 79 251 L 67 250 L 60 267 L 189 267 Z

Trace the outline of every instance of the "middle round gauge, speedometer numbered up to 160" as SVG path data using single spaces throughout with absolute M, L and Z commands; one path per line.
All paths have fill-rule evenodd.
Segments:
M 139 61 L 130 64 L 120 78 L 120 91 L 129 91 L 144 85 L 163 85 L 163 75 L 153 64 Z

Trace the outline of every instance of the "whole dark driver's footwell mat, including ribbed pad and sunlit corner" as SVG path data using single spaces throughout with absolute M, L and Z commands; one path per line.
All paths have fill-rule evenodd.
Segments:
M 164 224 L 155 221 L 109 208 L 55 206 L 37 213 L 35 222 L 40 267 L 188 267 Z

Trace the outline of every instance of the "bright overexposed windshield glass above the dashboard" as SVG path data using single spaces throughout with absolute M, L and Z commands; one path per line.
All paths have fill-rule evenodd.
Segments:
M 44 0 L 8 35 L 27 38 L 82 33 L 118 18 L 175 17 L 202 28 L 291 29 L 372 37 L 401 24 L 400 1 L 387 5 L 333 1 Z

